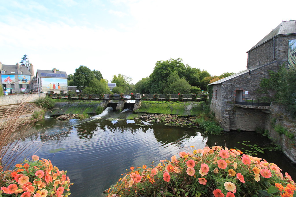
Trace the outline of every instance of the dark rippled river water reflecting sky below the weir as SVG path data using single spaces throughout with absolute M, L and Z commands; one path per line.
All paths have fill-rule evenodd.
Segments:
M 206 135 L 197 128 L 169 127 L 163 124 L 143 125 L 141 120 L 114 120 L 108 117 L 127 117 L 130 112 L 104 114 L 86 120 L 55 121 L 46 118 L 25 142 L 45 142 L 37 151 L 40 158 L 50 159 L 60 170 L 67 170 L 73 186 L 71 196 L 101 196 L 102 191 L 116 183 L 131 166 L 156 165 L 180 151 L 206 145 L 243 148 L 242 141 L 258 146 L 270 143 L 267 138 L 252 132 L 229 132 L 222 136 Z M 103 116 L 99 117 L 99 116 Z M 107 117 L 107 118 L 106 118 Z M 42 125 L 42 126 L 41 126 Z M 34 147 L 31 147 L 33 150 Z M 296 178 L 296 167 L 280 152 L 258 153 L 274 162 L 284 172 Z M 21 160 L 21 159 L 20 159 Z M 20 161 L 19 160 L 19 161 Z

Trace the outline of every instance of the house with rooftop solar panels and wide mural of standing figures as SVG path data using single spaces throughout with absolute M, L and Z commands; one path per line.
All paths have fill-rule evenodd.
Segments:
M 36 92 L 43 93 L 67 93 L 68 75 L 64 71 L 52 70 L 37 70 L 36 78 L 34 78 L 34 89 Z

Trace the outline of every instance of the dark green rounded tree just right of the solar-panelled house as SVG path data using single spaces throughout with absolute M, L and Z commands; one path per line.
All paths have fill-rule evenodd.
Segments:
M 74 86 L 77 86 L 78 89 L 84 89 L 94 78 L 95 76 L 91 69 L 86 66 L 80 65 L 74 73 Z

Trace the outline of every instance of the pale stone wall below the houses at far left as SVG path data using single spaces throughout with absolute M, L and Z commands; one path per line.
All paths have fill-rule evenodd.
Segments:
M 22 102 L 34 102 L 38 98 L 45 98 L 45 94 L 18 94 L 18 95 L 3 95 L 0 96 L 0 106 L 15 105 Z

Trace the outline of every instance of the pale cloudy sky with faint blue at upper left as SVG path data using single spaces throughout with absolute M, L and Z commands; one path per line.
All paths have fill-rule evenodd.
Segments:
M 212 76 L 245 70 L 247 51 L 295 1 L 0 0 L 0 62 L 25 54 L 37 69 L 73 74 L 80 65 L 109 82 L 139 80 L 157 61 L 181 58 Z

